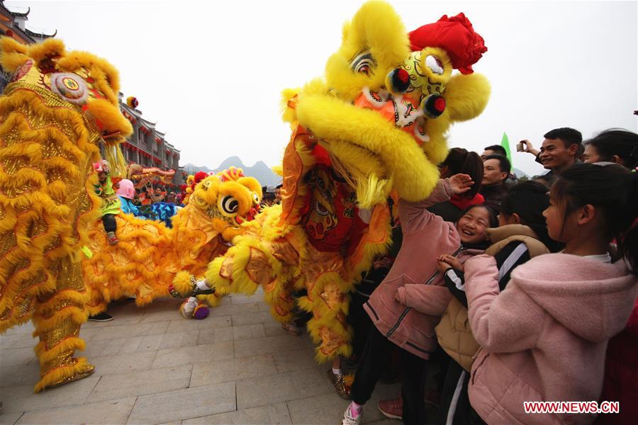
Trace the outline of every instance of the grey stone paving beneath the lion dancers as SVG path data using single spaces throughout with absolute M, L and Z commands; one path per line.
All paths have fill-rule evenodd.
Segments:
M 307 335 L 286 334 L 263 295 L 233 295 L 205 320 L 181 318 L 176 300 L 114 304 L 112 322 L 82 327 L 94 375 L 33 394 L 33 327 L 0 337 L 0 424 L 340 424 L 347 401 L 313 360 Z M 364 424 L 399 424 L 376 401 Z

